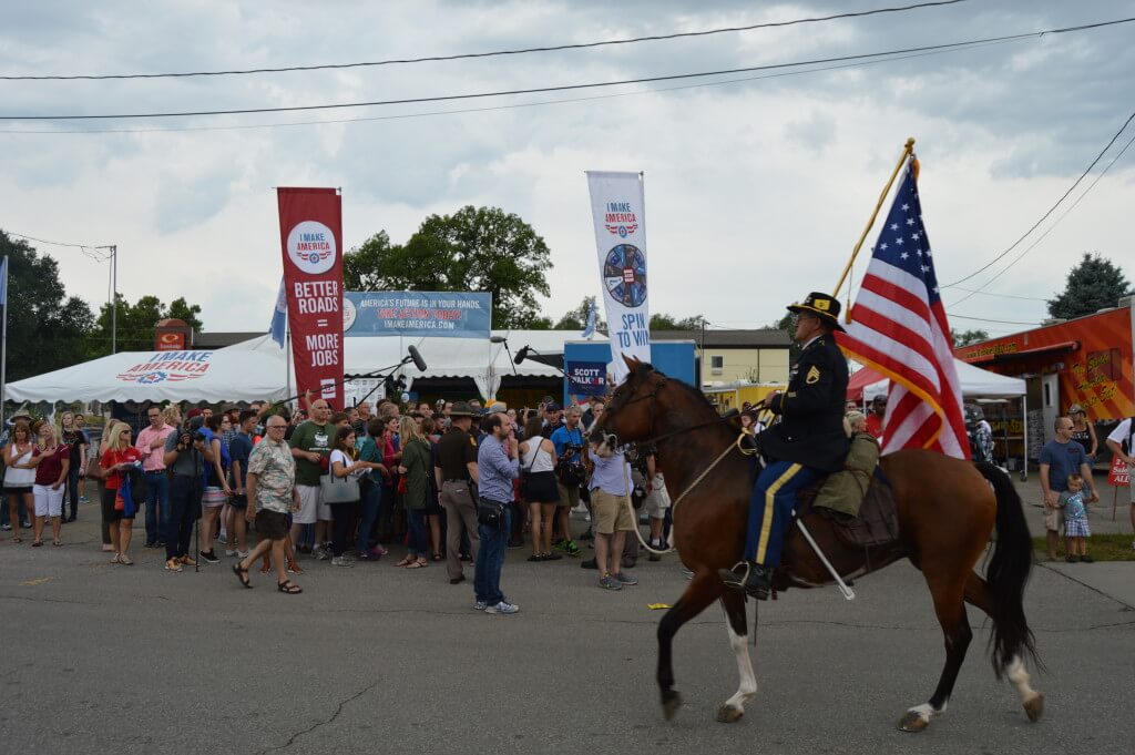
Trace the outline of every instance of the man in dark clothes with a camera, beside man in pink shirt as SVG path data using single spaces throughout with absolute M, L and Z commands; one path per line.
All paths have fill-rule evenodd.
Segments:
M 192 413 L 192 412 L 191 412 Z M 169 520 L 166 530 L 166 569 L 182 571 L 182 565 L 195 567 L 190 555 L 193 521 L 201 515 L 204 492 L 204 465 L 213 462 L 212 450 L 201 431 L 204 418 L 191 417 L 184 428 L 166 438 L 162 461 L 171 472 L 169 485 Z

